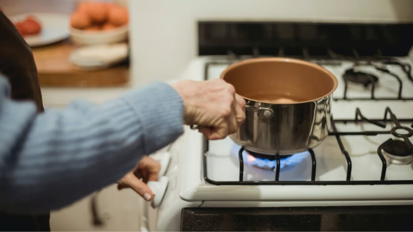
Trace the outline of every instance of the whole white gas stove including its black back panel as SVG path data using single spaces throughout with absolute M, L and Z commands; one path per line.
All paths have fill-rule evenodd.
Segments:
M 168 165 L 158 154 L 168 186 L 155 192 L 155 230 L 412 229 L 413 24 L 322 21 L 197 19 L 199 56 L 182 79 L 219 78 L 252 57 L 305 59 L 337 77 L 333 120 L 320 145 L 289 156 L 186 127 Z

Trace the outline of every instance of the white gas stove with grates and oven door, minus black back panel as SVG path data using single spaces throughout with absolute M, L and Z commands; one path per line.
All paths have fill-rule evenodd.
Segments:
M 201 56 L 183 78 L 219 78 L 234 62 L 268 56 L 252 50 Z M 412 229 L 406 223 L 413 217 L 412 56 L 294 51 L 302 55 L 291 57 L 338 79 L 329 136 L 309 151 L 280 156 L 245 150 L 229 138 L 208 141 L 185 128 L 170 148 L 157 230 L 274 230 L 268 215 L 284 231 L 363 229 L 355 221 L 369 230 Z

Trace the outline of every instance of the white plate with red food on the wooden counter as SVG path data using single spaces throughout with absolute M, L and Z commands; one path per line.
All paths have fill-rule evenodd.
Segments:
M 28 13 L 9 17 L 15 23 L 33 15 L 42 25 L 42 32 L 38 35 L 24 36 L 26 43 L 31 46 L 44 46 L 56 43 L 69 37 L 70 16 L 58 13 Z

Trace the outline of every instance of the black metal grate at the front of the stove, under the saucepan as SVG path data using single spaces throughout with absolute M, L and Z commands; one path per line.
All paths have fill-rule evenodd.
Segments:
M 390 117 L 390 121 L 395 125 L 391 130 L 389 131 L 361 131 L 361 132 L 339 132 L 336 128 L 336 123 L 371 123 L 376 126 L 385 128 L 386 123 L 389 122 L 389 119 L 387 116 Z M 356 117 L 353 120 L 333 120 L 331 119 L 331 129 L 332 131 L 329 133 L 329 136 L 334 136 L 339 144 L 339 147 L 341 149 L 341 153 L 345 156 L 346 161 L 347 161 L 347 175 L 346 175 L 346 180 L 343 181 L 315 181 L 315 173 L 316 173 L 316 159 L 314 155 L 314 151 L 310 149 L 310 155 L 311 155 L 311 180 L 310 181 L 280 181 L 280 155 L 276 154 L 275 159 L 277 161 L 277 165 L 275 168 L 275 177 L 274 181 L 244 181 L 244 159 L 242 156 L 242 152 L 244 151 L 244 147 L 241 147 L 238 153 L 239 157 L 239 164 L 240 164 L 240 175 L 239 175 L 239 181 L 213 181 L 208 178 L 207 174 L 207 167 L 206 167 L 206 153 L 208 151 L 208 140 L 205 140 L 205 153 L 203 157 L 203 163 L 204 163 L 204 179 L 207 183 L 212 184 L 212 185 L 392 185 L 392 184 L 413 184 L 413 180 L 385 180 L 386 177 L 386 168 L 387 168 L 387 162 L 386 159 L 383 156 L 382 150 L 383 147 L 388 146 L 390 143 L 392 143 L 393 139 L 388 139 L 382 144 L 380 144 L 377 148 L 377 155 L 379 156 L 381 162 L 382 162 L 382 169 L 381 169 L 381 176 L 380 180 L 375 180 L 375 181 L 352 181 L 351 180 L 351 174 L 352 174 L 352 160 L 350 158 L 349 152 L 346 150 L 342 140 L 341 136 L 377 136 L 379 134 L 385 134 L 385 135 L 394 135 L 396 137 L 399 137 L 404 140 L 404 143 L 406 144 L 406 147 L 409 149 L 410 152 L 413 153 L 413 144 L 409 140 L 410 137 L 413 136 L 413 130 L 408 127 L 403 127 L 401 126 L 400 122 L 412 122 L 413 119 L 398 119 L 391 109 L 389 107 L 386 108 L 385 113 L 384 113 L 384 118 L 382 120 L 370 120 L 364 117 L 361 114 L 361 111 L 359 108 L 356 109 Z M 411 126 L 413 128 L 413 124 Z M 409 133 L 405 134 L 398 134 L 396 129 L 403 128 L 404 130 L 408 131 Z

